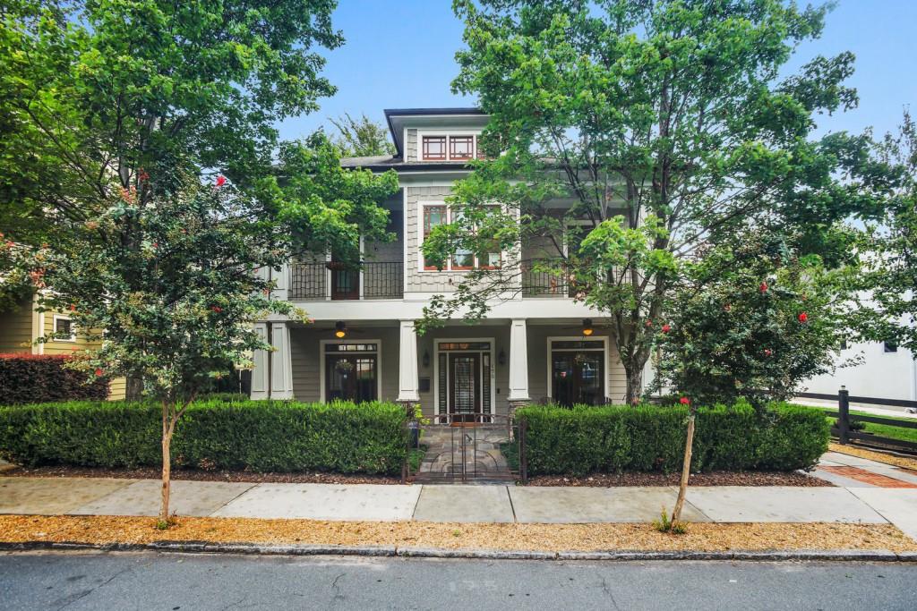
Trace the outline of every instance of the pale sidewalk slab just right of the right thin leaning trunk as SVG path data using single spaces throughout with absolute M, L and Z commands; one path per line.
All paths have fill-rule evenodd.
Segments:
M 688 500 L 714 522 L 886 522 L 846 488 L 698 486 Z

